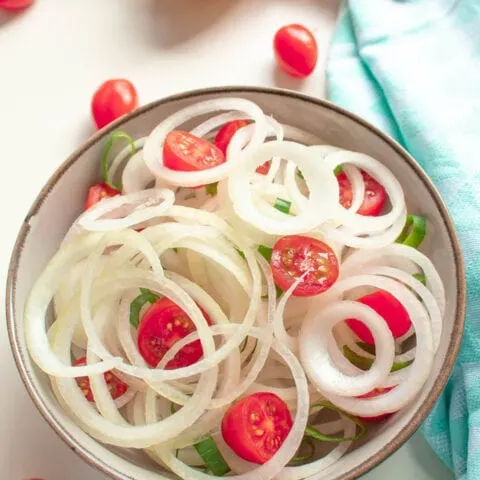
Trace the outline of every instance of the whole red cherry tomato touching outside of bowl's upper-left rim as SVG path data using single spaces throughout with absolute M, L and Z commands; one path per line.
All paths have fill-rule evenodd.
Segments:
M 133 112 L 138 106 L 135 87 L 128 80 L 117 78 L 102 83 L 92 98 L 92 115 L 98 128 Z

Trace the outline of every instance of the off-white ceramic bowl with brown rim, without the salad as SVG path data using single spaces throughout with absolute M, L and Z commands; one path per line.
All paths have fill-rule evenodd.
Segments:
M 318 480 L 349 480 L 364 474 L 398 449 L 432 409 L 452 370 L 462 336 L 465 276 L 459 242 L 439 193 L 417 162 L 396 142 L 361 118 L 331 103 L 269 88 L 215 88 L 175 95 L 140 108 L 98 132 L 68 158 L 38 195 L 22 225 L 13 251 L 6 296 L 10 342 L 23 382 L 40 413 L 60 437 L 88 463 L 118 480 L 173 478 L 138 451 L 105 446 L 62 411 L 47 376 L 34 365 L 25 344 L 23 311 L 27 295 L 69 225 L 83 209 L 86 191 L 100 179 L 105 137 L 121 128 L 130 135 L 148 134 L 167 115 L 192 103 L 217 97 L 244 97 L 280 122 L 321 137 L 326 143 L 372 155 L 402 184 L 409 211 L 428 218 L 422 250 L 445 282 L 447 309 L 441 344 L 432 373 L 408 408 L 377 427 L 369 438 L 321 472 Z M 153 476 L 152 472 L 157 475 Z

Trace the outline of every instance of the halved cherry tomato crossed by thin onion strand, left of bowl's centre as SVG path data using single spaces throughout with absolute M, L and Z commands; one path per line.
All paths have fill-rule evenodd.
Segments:
M 211 321 L 207 314 L 203 316 L 209 325 Z M 196 331 L 190 317 L 170 299 L 163 297 L 157 300 L 145 312 L 138 327 L 138 350 L 145 361 L 156 367 L 170 347 L 189 333 Z M 198 362 L 203 355 L 200 340 L 185 345 L 170 360 L 165 369 L 188 367 Z

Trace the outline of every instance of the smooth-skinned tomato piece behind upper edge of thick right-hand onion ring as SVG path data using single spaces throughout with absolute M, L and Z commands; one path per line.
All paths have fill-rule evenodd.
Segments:
M 373 308 L 387 322 L 388 328 L 394 338 L 400 338 L 410 329 L 412 322 L 405 307 L 390 293 L 377 290 L 359 299 L 357 302 Z M 375 344 L 370 329 L 359 320 L 350 318 L 347 325 L 357 334 L 362 342 L 370 345 Z

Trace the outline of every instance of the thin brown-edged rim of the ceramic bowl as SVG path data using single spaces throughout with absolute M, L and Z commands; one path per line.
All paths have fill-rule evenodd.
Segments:
M 106 464 L 103 460 L 97 458 L 92 452 L 83 447 L 75 438 L 73 438 L 69 432 L 65 430 L 63 425 L 56 418 L 55 412 L 51 411 L 46 403 L 43 401 L 39 392 L 34 388 L 34 382 L 32 377 L 34 375 L 26 363 L 25 357 L 28 355 L 26 348 L 22 346 L 25 342 L 19 338 L 18 331 L 15 325 L 15 288 L 16 288 L 16 279 L 18 274 L 18 265 L 20 262 L 20 257 L 23 250 L 23 245 L 27 239 L 27 236 L 30 231 L 29 220 L 37 214 L 40 210 L 42 203 L 47 197 L 48 193 L 54 186 L 59 182 L 64 175 L 64 173 L 93 145 L 101 141 L 105 136 L 110 134 L 112 131 L 116 130 L 118 127 L 124 123 L 132 120 L 133 118 L 140 117 L 146 112 L 157 108 L 160 105 L 167 104 L 172 101 L 184 100 L 192 97 L 197 97 L 201 99 L 202 96 L 212 95 L 212 94 L 221 94 L 221 93 L 235 93 L 238 95 L 248 94 L 248 93 L 264 93 L 269 95 L 278 95 L 280 97 L 290 97 L 298 100 L 306 101 L 314 105 L 318 105 L 322 108 L 329 109 L 335 113 L 348 117 L 349 119 L 355 121 L 356 123 L 361 124 L 363 127 L 370 130 L 372 133 L 380 137 L 383 141 L 388 143 L 392 149 L 398 153 L 400 157 L 415 171 L 416 175 L 422 180 L 425 188 L 428 190 L 432 199 L 434 200 L 436 207 L 438 208 L 439 213 L 442 216 L 442 219 L 445 223 L 445 227 L 448 231 L 450 244 L 453 250 L 454 262 L 457 272 L 457 309 L 454 319 L 455 328 L 452 331 L 452 336 L 448 346 L 448 350 L 445 354 L 443 364 L 440 369 L 437 381 L 429 392 L 429 395 L 425 399 L 424 403 L 414 414 L 411 422 L 406 425 L 399 434 L 390 441 L 387 445 L 378 451 L 375 455 L 366 459 L 360 465 L 350 470 L 346 474 L 337 477 L 335 480 L 353 480 L 358 478 L 361 475 L 364 475 L 369 470 L 380 464 L 386 458 L 388 458 L 392 453 L 394 453 L 398 448 L 400 448 L 415 431 L 420 427 L 423 420 L 427 417 L 428 413 L 433 409 L 436 401 L 438 400 L 443 388 L 445 387 L 448 378 L 453 370 L 455 360 L 457 358 L 458 352 L 460 350 L 464 323 L 465 323 L 465 311 L 466 311 L 466 281 L 465 281 L 465 268 L 463 263 L 463 255 L 460 247 L 460 241 L 458 239 L 457 233 L 455 231 L 455 226 L 453 223 L 450 214 L 448 213 L 447 207 L 445 206 L 440 193 L 438 192 L 435 185 L 432 183 L 430 178 L 427 176 L 422 167 L 417 163 L 417 161 L 395 140 L 383 133 L 381 130 L 359 117 L 358 115 L 332 103 L 328 100 L 312 97 L 303 93 L 295 92 L 292 90 L 273 88 L 273 87 L 256 87 L 256 86 L 225 86 L 225 87 L 212 87 L 212 88 L 202 88 L 196 90 L 189 90 L 187 92 L 178 93 L 175 95 L 170 95 L 164 97 L 160 100 L 154 101 L 147 105 L 144 105 L 134 112 L 125 115 L 118 120 L 107 125 L 103 129 L 96 132 L 92 137 L 85 141 L 77 150 L 72 153 L 53 173 L 49 178 L 45 186 L 42 188 L 40 193 L 37 195 L 34 203 L 30 207 L 20 231 L 17 235 L 15 246 L 12 251 L 10 265 L 8 269 L 7 277 L 7 287 L 6 287 L 6 296 L 5 296 L 5 308 L 6 308 L 6 319 L 7 319 L 7 329 L 10 340 L 10 346 L 12 348 L 13 356 L 17 369 L 20 373 L 22 381 L 27 389 L 33 403 L 47 421 L 47 423 L 53 428 L 53 430 L 59 435 L 59 437 L 81 458 L 83 458 L 88 464 L 97 468 L 106 475 L 111 476 L 116 480 L 124 480 L 125 475 L 118 471 L 112 465 Z

